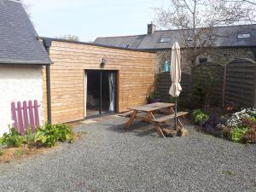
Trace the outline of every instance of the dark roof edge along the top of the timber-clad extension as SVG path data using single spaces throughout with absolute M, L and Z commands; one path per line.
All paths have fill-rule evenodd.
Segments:
M 64 43 L 69 43 L 69 44 L 84 44 L 84 45 L 90 45 L 90 46 L 96 46 L 96 47 L 103 47 L 103 48 L 110 48 L 110 49 L 121 49 L 121 50 L 131 50 L 131 51 L 137 51 L 137 52 L 146 52 L 146 53 L 156 53 L 156 51 L 153 49 L 131 49 L 131 48 L 121 48 L 121 47 L 116 47 L 116 46 L 111 46 L 111 45 L 103 45 L 103 44 L 94 44 L 94 43 L 86 43 L 86 42 L 81 42 L 81 41 L 72 41 L 72 40 L 66 40 L 66 39 L 60 39 L 60 38 L 45 38 L 45 37 L 38 37 L 40 39 L 48 39 L 51 41 L 56 41 L 56 42 L 64 42 Z

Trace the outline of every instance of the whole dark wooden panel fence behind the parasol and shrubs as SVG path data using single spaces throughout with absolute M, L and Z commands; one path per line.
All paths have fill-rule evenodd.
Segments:
M 181 96 L 189 96 L 199 73 L 208 79 L 209 70 L 215 73 L 217 79 L 212 84 L 212 94 L 209 101 L 212 105 L 224 107 L 234 102 L 241 107 L 256 108 L 256 62 L 249 59 L 236 59 L 228 65 L 211 62 L 202 63 L 193 69 L 193 79 L 187 73 L 182 74 L 183 91 Z M 202 81 L 206 84 L 206 81 Z M 169 102 L 168 94 L 171 86 L 170 73 L 160 73 L 157 77 L 156 90 L 162 96 L 163 102 Z

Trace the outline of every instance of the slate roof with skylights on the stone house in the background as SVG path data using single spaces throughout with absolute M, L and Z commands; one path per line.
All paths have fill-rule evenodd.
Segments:
M 212 30 L 216 39 L 212 46 L 215 47 L 252 47 L 256 46 L 256 25 L 244 26 L 219 26 Z M 250 33 L 251 38 L 237 39 L 237 34 Z M 169 43 L 160 43 L 161 38 L 171 38 Z M 96 38 L 96 44 L 108 46 L 125 47 L 130 44 L 131 49 L 170 49 L 174 42 L 178 42 L 181 47 L 183 32 L 181 30 L 155 31 L 153 34 Z

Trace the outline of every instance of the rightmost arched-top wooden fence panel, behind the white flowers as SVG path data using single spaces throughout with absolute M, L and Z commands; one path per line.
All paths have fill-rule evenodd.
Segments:
M 239 59 L 226 66 L 224 102 L 234 102 L 242 107 L 256 108 L 256 64 Z

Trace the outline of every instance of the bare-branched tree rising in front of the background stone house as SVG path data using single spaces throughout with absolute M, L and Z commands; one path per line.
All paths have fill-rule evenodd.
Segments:
M 253 23 L 254 0 L 170 0 L 158 14 L 158 25 L 179 29 L 180 43 L 195 66 L 196 57 L 214 45 L 216 26 Z

